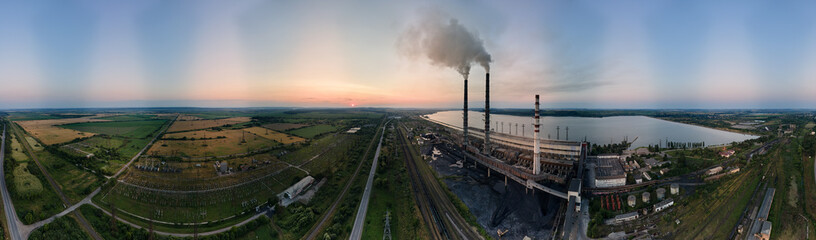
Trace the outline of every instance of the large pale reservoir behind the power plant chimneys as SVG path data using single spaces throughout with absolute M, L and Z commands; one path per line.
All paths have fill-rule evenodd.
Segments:
M 428 115 L 428 118 L 462 127 L 462 111 L 442 111 Z M 504 132 L 519 136 L 533 136 L 533 117 L 521 117 L 502 114 L 490 115 L 491 131 Z M 496 125 L 498 122 L 498 126 Z M 504 125 L 502 125 L 504 123 Z M 518 127 L 516 127 L 518 125 Z M 561 140 L 583 140 L 594 144 L 620 142 L 628 138 L 632 148 L 665 144 L 671 142 L 705 142 L 707 146 L 731 142 L 741 142 L 757 138 L 749 134 L 740 134 L 712 128 L 694 126 L 684 123 L 646 116 L 616 116 L 603 118 L 590 117 L 541 117 L 540 138 L 556 139 L 556 127 L 561 127 Z M 484 113 L 469 112 L 468 127 L 484 128 Z M 569 127 L 569 139 L 566 128 Z M 661 145 L 662 145 L 661 144 Z

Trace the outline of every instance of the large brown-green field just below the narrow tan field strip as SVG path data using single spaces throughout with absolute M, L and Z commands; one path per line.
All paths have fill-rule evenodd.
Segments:
M 193 138 L 196 140 L 190 140 Z M 257 151 L 278 144 L 244 130 L 198 130 L 165 134 L 148 153 L 154 156 L 216 157 Z

